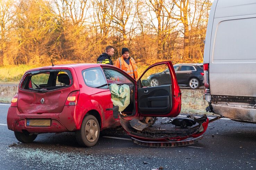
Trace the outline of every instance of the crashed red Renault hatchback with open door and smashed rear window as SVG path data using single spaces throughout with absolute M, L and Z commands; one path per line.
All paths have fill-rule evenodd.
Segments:
M 169 69 L 163 86 L 150 87 L 147 77 Z M 151 65 L 136 81 L 108 64 L 68 64 L 32 69 L 23 75 L 8 110 L 8 128 L 18 141 L 32 142 L 40 133 L 75 132 L 79 144 L 93 146 L 100 131 L 120 126 L 109 85 L 127 84 L 125 120 L 176 117 L 181 93 L 170 61 Z

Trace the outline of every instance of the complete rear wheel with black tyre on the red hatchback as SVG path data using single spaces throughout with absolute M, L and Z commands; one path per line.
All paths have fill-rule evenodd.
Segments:
M 96 117 L 87 115 L 84 117 L 80 130 L 76 131 L 77 142 L 86 147 L 94 146 L 100 136 L 100 125 Z

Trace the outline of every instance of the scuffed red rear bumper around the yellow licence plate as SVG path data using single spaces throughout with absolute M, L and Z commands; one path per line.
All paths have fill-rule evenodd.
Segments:
M 29 133 L 61 133 L 75 131 L 75 106 L 65 106 L 61 113 L 20 113 L 17 107 L 9 107 L 7 114 L 8 129 L 15 132 L 26 130 Z M 46 127 L 27 126 L 27 119 L 51 119 Z

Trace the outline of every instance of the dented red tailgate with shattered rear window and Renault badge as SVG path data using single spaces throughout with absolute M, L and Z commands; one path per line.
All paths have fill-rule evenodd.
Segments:
M 18 89 L 20 113 L 61 113 L 70 92 L 75 91 L 72 70 L 26 72 Z

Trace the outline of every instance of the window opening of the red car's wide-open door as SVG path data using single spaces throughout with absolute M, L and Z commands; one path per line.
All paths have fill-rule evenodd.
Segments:
M 168 70 L 168 72 L 167 72 Z M 140 79 L 142 87 L 154 87 L 171 84 L 171 75 L 166 64 L 156 65 Z

